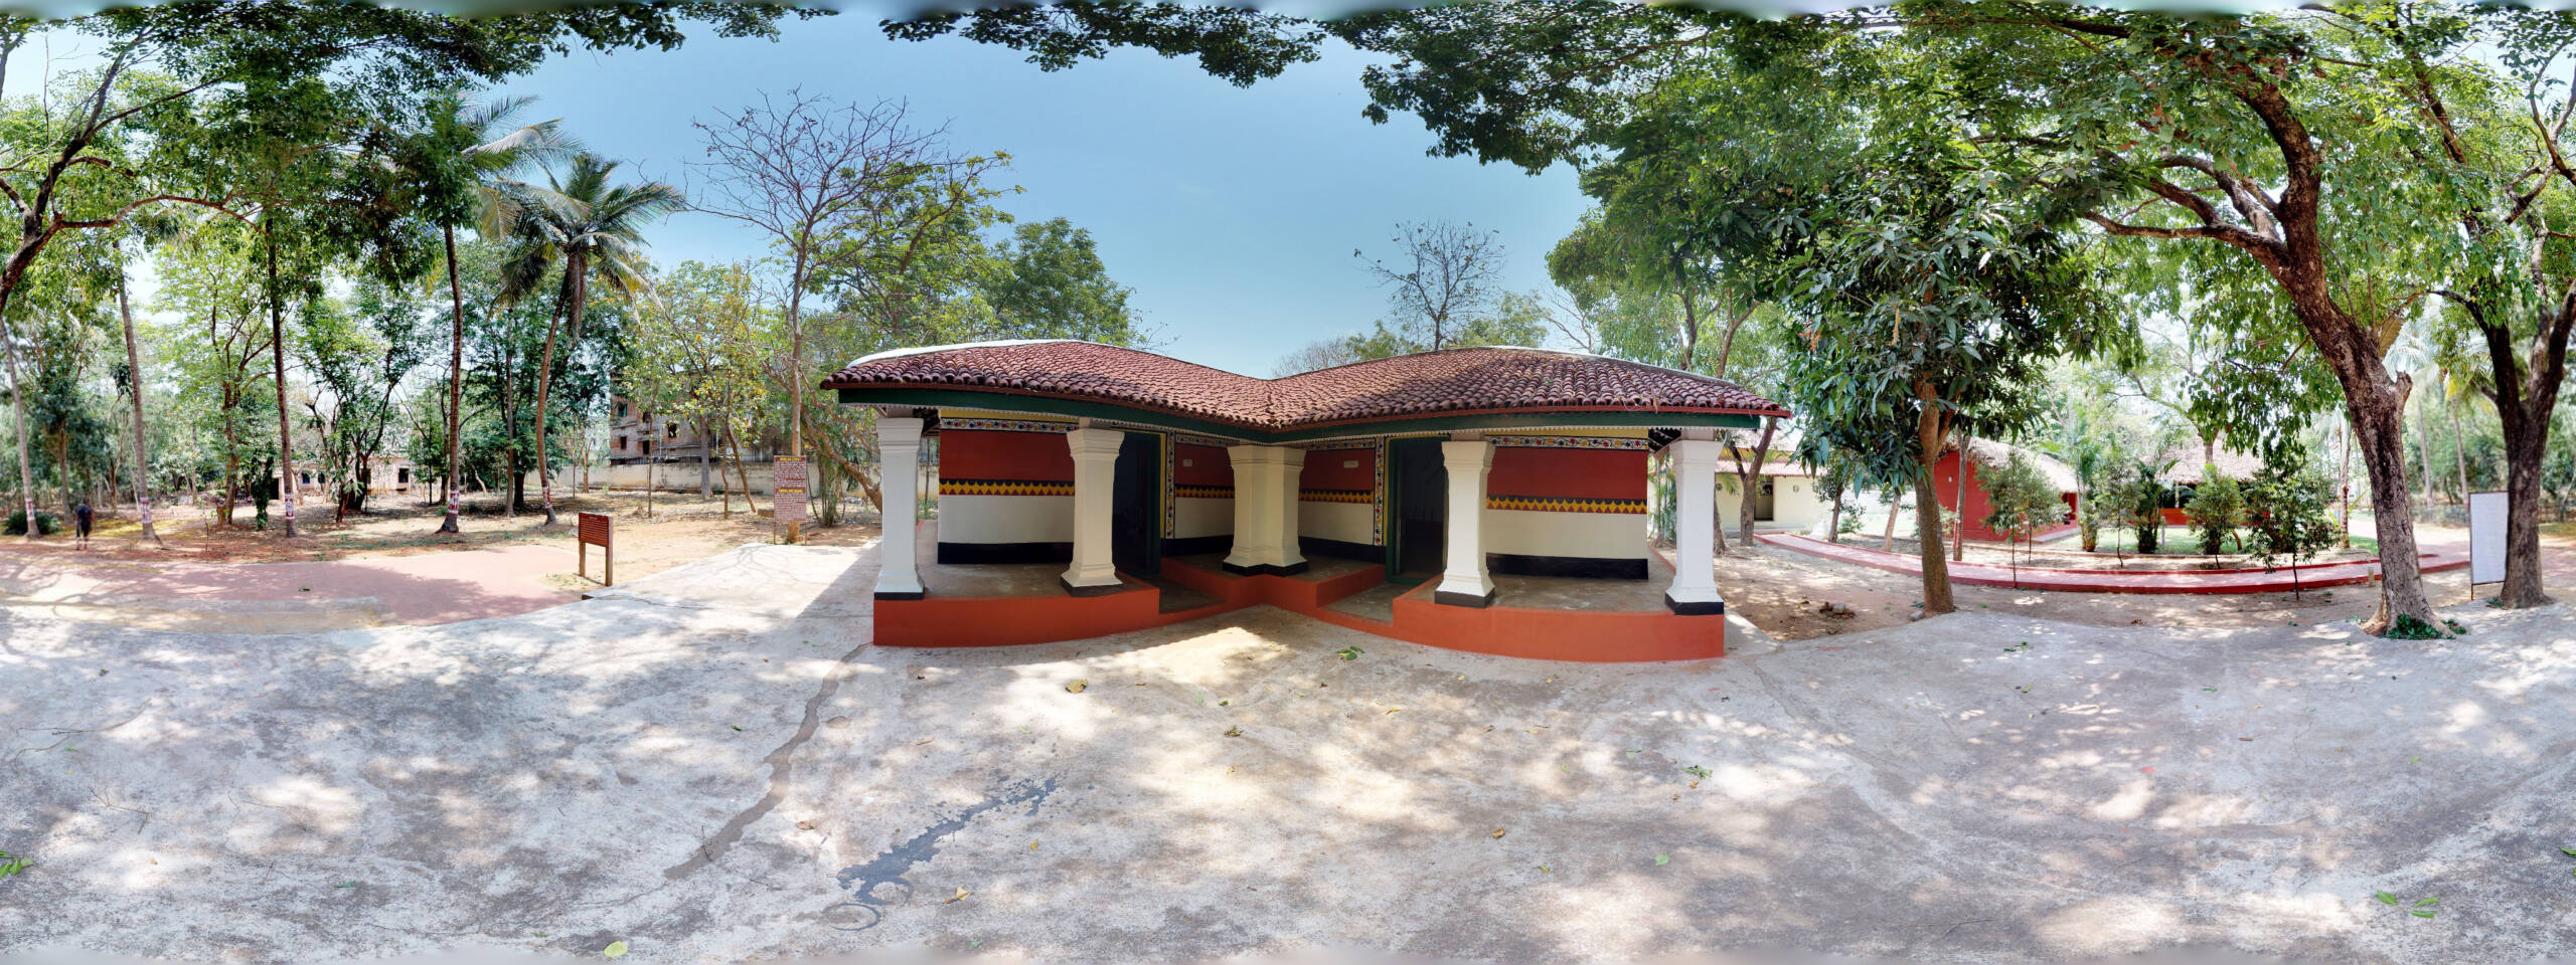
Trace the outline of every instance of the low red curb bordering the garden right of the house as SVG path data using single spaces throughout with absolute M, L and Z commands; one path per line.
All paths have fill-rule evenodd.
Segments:
M 1886 553 L 1860 546 L 1826 543 L 1793 533 L 1757 533 L 1762 543 L 1793 548 L 1808 556 L 1824 556 L 1832 561 L 1886 569 L 1891 574 L 1919 576 L 1924 564 L 1914 556 Z M 2445 571 L 2468 566 L 2468 556 L 2458 553 L 2424 553 L 2424 571 Z M 2282 566 L 2282 569 L 2056 569 L 2056 566 L 2012 566 L 1994 564 L 1950 564 L 1950 582 L 1968 587 L 2014 587 L 2014 589 L 2066 589 L 2066 592 L 2287 592 L 2287 589 L 2318 589 L 2318 587 L 2349 587 L 2367 584 L 2380 576 L 2380 561 L 2375 558 L 2347 558 L 2334 564 L 2308 564 L 2308 566 Z

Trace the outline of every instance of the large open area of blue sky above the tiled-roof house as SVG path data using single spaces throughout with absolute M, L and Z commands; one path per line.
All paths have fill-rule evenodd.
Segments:
M 677 51 L 574 54 L 502 87 L 538 95 L 531 118 L 564 126 L 639 175 L 683 183 L 698 160 L 690 118 L 804 87 L 842 100 L 904 98 L 951 124 L 969 152 L 1010 152 L 1005 208 L 1087 226 L 1164 350 L 1267 376 L 1306 342 L 1365 329 L 1386 309 L 1352 247 L 1394 255 L 1396 221 L 1497 229 L 1515 291 L 1548 283 L 1546 252 L 1584 198 L 1566 167 L 1427 157 L 1430 134 L 1368 124 L 1358 51 L 1234 87 L 1195 62 L 1118 51 L 1041 72 L 1018 51 L 889 41 L 873 15 L 788 21 L 773 41 L 690 39 Z M 688 214 L 652 237 L 662 262 L 757 255 L 762 239 Z

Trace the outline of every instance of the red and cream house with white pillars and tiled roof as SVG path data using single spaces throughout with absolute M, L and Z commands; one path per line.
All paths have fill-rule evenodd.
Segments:
M 1788 414 L 1721 378 L 1528 347 L 1249 378 L 976 342 L 860 358 L 824 389 L 878 409 L 886 463 L 940 440 L 938 522 L 889 512 L 876 582 L 876 641 L 925 646 L 1273 602 L 1489 654 L 1716 656 L 1718 432 Z M 1667 445 L 1685 481 L 1672 561 L 1646 543 L 1646 458 Z M 909 473 L 886 476 L 886 507 L 914 499 Z M 994 576 L 1054 564 L 1046 584 Z M 1345 597 L 1391 602 L 1381 620 L 1334 610 Z

